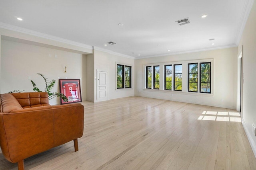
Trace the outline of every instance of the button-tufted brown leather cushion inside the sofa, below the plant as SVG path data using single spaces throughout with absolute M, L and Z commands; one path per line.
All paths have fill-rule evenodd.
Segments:
M 12 93 L 22 108 L 49 106 L 47 92 Z

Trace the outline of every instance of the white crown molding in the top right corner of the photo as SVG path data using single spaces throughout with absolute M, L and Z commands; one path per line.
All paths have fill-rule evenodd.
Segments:
M 244 10 L 242 12 L 242 16 L 239 21 L 239 27 L 238 27 L 236 38 L 235 38 L 236 45 L 238 45 L 241 40 L 242 34 L 244 32 L 244 27 L 250 15 L 250 11 L 252 9 L 253 3 L 254 3 L 254 0 L 246 0 L 244 4 L 244 7 L 243 7 Z

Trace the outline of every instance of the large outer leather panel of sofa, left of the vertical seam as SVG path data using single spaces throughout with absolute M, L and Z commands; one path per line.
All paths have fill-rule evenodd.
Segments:
M 0 144 L 4 157 L 15 163 L 51 149 L 54 139 L 53 115 L 53 109 L 1 113 Z

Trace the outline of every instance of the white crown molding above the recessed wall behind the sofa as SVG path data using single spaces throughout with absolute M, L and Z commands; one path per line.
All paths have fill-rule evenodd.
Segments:
M 17 26 L 14 26 L 14 25 L 3 23 L 3 22 L 0 22 L 0 28 L 9 29 L 9 30 L 12 30 L 12 31 L 25 33 L 25 34 L 28 34 L 28 35 L 33 35 L 33 36 L 41 37 L 41 38 L 45 38 L 45 39 L 50 39 L 50 40 L 58 41 L 58 42 L 61 42 L 61 43 L 66 43 L 66 44 L 69 44 L 69 45 L 74 45 L 74 46 L 78 46 L 78 47 L 92 49 L 92 46 L 90 46 L 90 45 L 86 45 L 86 44 L 83 44 L 83 43 L 78 43 L 78 42 L 75 42 L 75 41 L 70 41 L 68 39 L 55 37 L 55 36 L 48 35 L 48 34 L 45 34 L 45 33 L 40 33 L 40 32 L 37 32 L 37 31 L 32 31 L 30 29 L 17 27 Z

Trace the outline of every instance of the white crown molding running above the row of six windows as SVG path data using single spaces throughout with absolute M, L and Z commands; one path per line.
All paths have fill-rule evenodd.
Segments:
M 145 56 L 145 57 L 136 57 L 135 60 L 152 58 L 152 57 L 170 56 L 170 55 L 176 55 L 176 54 L 195 53 L 195 52 L 200 52 L 200 51 L 226 49 L 226 48 L 232 48 L 232 47 L 237 47 L 237 45 L 236 44 L 230 44 L 230 45 L 223 45 L 223 46 L 217 46 L 217 47 L 212 47 L 212 48 L 201 48 L 201 49 L 194 49 L 194 50 L 174 51 L 174 52 L 170 52 L 170 53 L 166 53 L 166 54 L 162 54 L 162 55 L 150 55 L 150 56 Z

